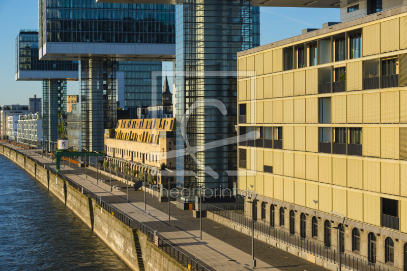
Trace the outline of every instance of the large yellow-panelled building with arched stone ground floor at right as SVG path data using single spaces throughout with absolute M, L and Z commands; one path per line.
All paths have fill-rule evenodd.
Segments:
M 238 54 L 238 188 L 257 221 L 407 270 L 407 7 L 324 26 Z

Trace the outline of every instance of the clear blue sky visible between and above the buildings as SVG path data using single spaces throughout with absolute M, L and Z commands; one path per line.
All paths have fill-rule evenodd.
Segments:
M 321 28 L 328 21 L 339 21 L 339 9 L 260 8 L 260 43 L 297 36 L 302 29 Z M 15 39 L 20 29 L 38 29 L 38 1 L 0 0 L 0 106 L 26 105 L 34 94 L 42 96 L 41 82 L 15 81 Z M 163 70 L 165 65 L 172 70 L 172 63 L 163 65 Z M 68 94 L 79 94 L 77 82 L 68 82 Z

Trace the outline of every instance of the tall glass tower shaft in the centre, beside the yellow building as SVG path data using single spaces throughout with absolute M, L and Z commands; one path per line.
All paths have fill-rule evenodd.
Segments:
M 201 146 L 237 136 L 237 52 L 259 46 L 259 8 L 251 1 L 184 0 L 176 7 L 176 25 L 177 149 L 186 146 L 182 117 L 203 98 L 222 101 L 227 115 L 211 106 L 194 110 L 186 130 L 189 144 Z M 203 182 L 188 176 L 190 172 L 203 178 L 206 188 L 227 188 L 237 181 L 232 172 L 227 173 L 237 170 L 236 144 L 195 155 L 219 177 L 209 176 L 185 155 L 177 158 L 178 186 L 194 188 Z

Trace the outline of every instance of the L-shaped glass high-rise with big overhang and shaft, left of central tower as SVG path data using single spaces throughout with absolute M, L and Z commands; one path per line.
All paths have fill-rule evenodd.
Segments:
M 101 151 L 104 129 L 116 126 L 117 72 L 129 66 L 147 68 L 147 73 L 159 69 L 158 63 L 146 63 L 143 67 L 118 61 L 171 60 L 175 53 L 175 7 L 97 4 L 94 0 L 39 0 L 39 14 L 40 58 L 80 59 L 84 124 L 81 144 L 83 149 Z M 141 83 L 137 81 L 139 78 L 126 78 L 130 76 L 129 71 L 124 72 L 129 83 L 125 97 L 129 98 L 131 110 L 136 111 L 136 107 L 143 105 L 142 101 L 152 100 L 151 81 L 142 75 Z M 143 89 L 147 84 L 150 85 L 148 92 Z M 140 94 L 132 93 L 139 91 Z M 143 98 L 143 93 L 144 96 L 149 93 L 150 98 Z

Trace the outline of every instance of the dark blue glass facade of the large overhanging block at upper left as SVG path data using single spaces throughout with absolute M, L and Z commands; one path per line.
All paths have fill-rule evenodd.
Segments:
M 39 0 L 45 42 L 175 43 L 175 6 Z

